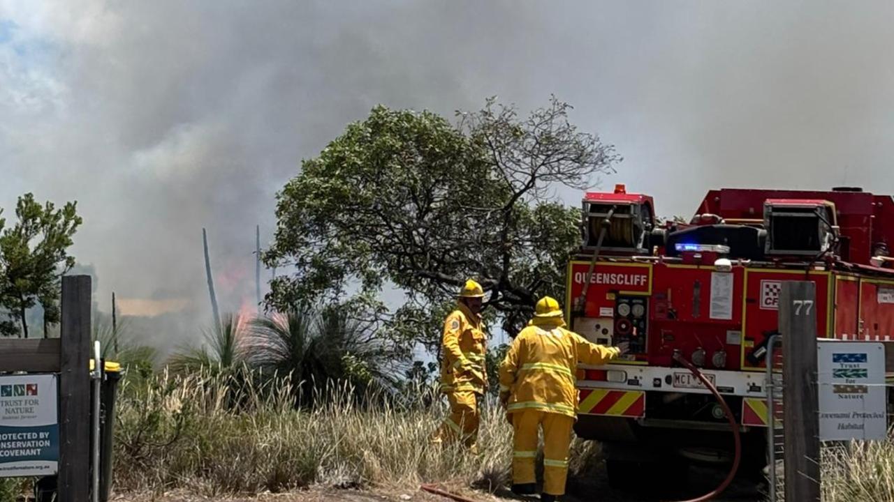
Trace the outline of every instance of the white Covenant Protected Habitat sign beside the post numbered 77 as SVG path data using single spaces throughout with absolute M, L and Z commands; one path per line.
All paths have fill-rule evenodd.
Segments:
M 819 340 L 820 439 L 885 439 L 885 349 L 881 343 Z

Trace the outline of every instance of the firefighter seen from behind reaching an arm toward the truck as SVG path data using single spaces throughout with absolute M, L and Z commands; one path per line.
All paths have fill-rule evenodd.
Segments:
M 512 341 L 500 365 L 500 401 L 514 430 L 512 491 L 535 493 L 537 434 L 543 429 L 543 502 L 565 494 L 571 428 L 578 414 L 578 363 L 604 364 L 628 350 L 627 342 L 603 347 L 564 326 L 559 302 L 541 298 L 534 318 Z

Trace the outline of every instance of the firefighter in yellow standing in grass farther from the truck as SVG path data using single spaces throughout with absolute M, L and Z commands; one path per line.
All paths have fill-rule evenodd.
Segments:
M 481 285 L 467 280 L 456 310 L 444 321 L 441 391 L 447 395 L 450 415 L 433 439 L 434 443 L 460 439 L 473 453 L 477 453 L 478 400 L 487 390 L 487 345 L 480 314 L 484 297 Z

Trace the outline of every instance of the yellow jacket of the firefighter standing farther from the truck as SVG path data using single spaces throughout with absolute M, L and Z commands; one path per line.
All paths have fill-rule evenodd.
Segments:
M 460 303 L 444 321 L 441 352 L 442 392 L 471 390 L 485 393 L 487 340 L 480 315 L 472 314 Z

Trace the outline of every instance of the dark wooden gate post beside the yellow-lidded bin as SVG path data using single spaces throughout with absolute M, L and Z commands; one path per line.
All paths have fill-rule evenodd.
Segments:
M 59 377 L 59 502 L 89 500 L 89 275 L 62 278 Z

